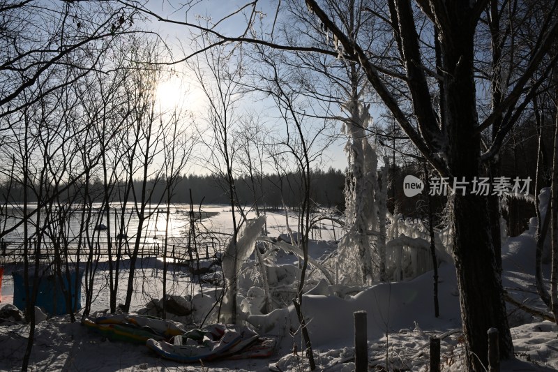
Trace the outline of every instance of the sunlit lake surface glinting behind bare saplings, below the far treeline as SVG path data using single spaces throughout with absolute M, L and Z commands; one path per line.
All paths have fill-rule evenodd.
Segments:
M 70 255 L 75 255 L 79 248 L 82 259 L 85 259 L 86 253 L 89 252 L 88 246 L 94 246 L 100 259 L 106 259 L 109 240 L 114 247 L 113 251 L 118 248 L 124 253 L 129 253 L 130 246 L 133 248 L 138 240 L 140 252 L 148 256 L 160 255 L 166 243 L 167 252 L 174 251 L 173 257 L 182 258 L 190 252 L 193 253 L 194 249 L 200 255 L 206 253 L 213 255 L 232 234 L 232 213 L 230 207 L 225 205 L 208 204 L 195 207 L 193 213 L 190 213 L 188 204 L 171 204 L 168 218 L 166 207 L 147 208 L 145 213 L 149 217 L 144 221 L 141 230 L 138 229 L 140 220 L 133 208 L 128 208 L 122 213 L 121 208 L 111 207 L 108 214 L 110 218 L 107 219 L 107 213 L 100 209 L 100 204 L 93 207 L 89 223 L 84 223 L 83 213 L 78 209 L 67 211 L 63 223 L 45 222 L 44 216 L 41 216 L 40 222 L 36 223 L 36 217 L 31 218 L 32 222 L 27 226 L 31 243 L 36 241 L 34 232 L 38 225 L 43 230 L 41 234 L 43 244 L 40 248 L 40 253 L 43 255 L 52 255 L 54 253 L 52 241 L 63 235 L 68 240 L 62 241 L 61 245 L 68 246 Z M 33 206 L 30 209 L 33 209 Z M 255 217 L 255 211 L 246 209 L 246 216 Z M 284 212 L 266 211 L 266 216 L 269 235 L 277 236 L 287 230 Z M 292 230 L 296 230 L 296 217 L 292 214 L 290 216 L 289 225 Z M 8 231 L 22 221 L 22 211 L 18 207 L 13 207 L 0 218 L 1 231 Z M 236 214 L 236 219 L 239 221 L 239 214 Z M 99 230 L 98 227 L 101 226 L 107 229 Z M 338 227 L 325 223 L 319 224 L 318 227 L 312 230 L 313 239 L 338 239 L 333 230 L 337 229 L 340 232 Z M 139 239 L 138 235 L 140 235 Z M 22 224 L 2 237 L 0 265 L 10 260 L 22 260 L 23 241 L 24 225 Z M 32 248 L 29 250 L 32 251 Z

